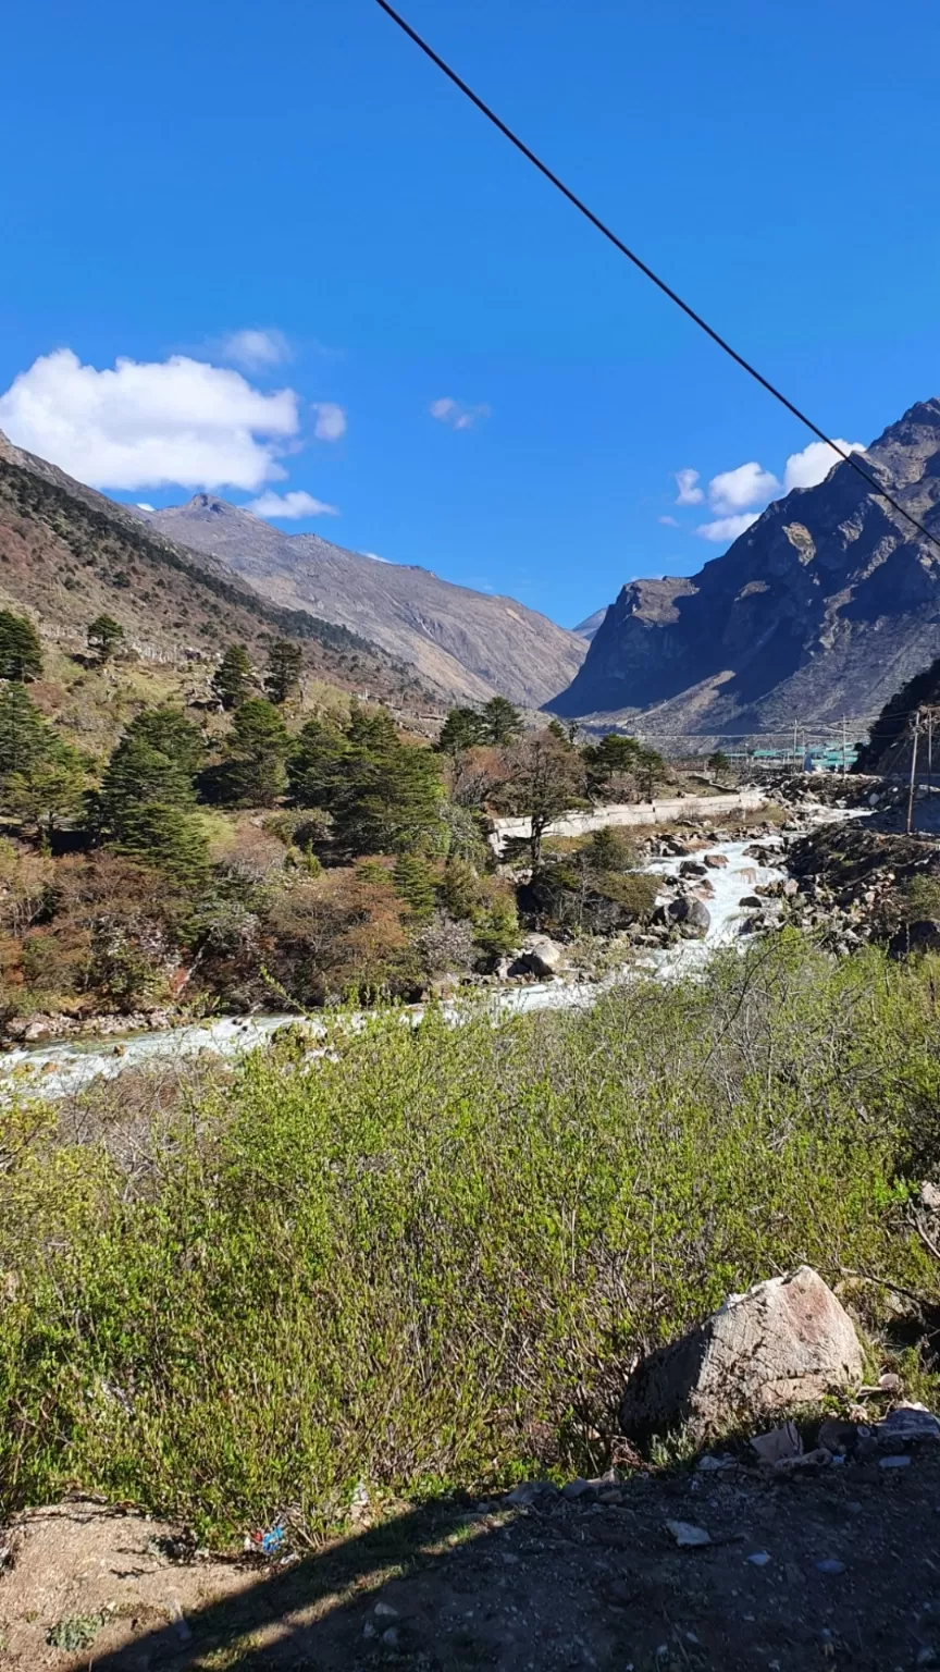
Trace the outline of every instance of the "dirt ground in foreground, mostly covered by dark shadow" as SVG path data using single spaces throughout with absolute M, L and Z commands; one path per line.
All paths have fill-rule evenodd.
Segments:
M 938 1451 L 791 1481 L 686 1471 L 577 1500 L 437 1506 L 274 1567 L 192 1560 L 164 1523 L 67 1503 L 0 1540 L 0 1665 L 940 1667 Z M 713 1545 L 676 1548 L 666 1520 Z

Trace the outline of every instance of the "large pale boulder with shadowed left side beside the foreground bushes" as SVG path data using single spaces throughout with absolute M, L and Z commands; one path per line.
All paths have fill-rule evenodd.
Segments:
M 621 1423 L 637 1438 L 679 1425 L 706 1438 L 861 1379 L 851 1318 L 818 1272 L 800 1266 L 729 1296 L 697 1329 L 637 1364 Z

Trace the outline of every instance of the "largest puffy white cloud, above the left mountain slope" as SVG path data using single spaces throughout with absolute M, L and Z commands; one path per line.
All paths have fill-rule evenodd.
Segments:
M 0 396 L 0 430 L 94 488 L 261 488 L 299 430 L 293 390 L 184 354 L 97 371 L 70 348 L 35 359 Z

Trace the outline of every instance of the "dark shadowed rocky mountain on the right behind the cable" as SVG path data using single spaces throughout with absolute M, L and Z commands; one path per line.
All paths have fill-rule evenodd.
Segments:
M 940 401 L 912 406 L 865 463 L 940 538 Z M 626 585 L 545 706 L 642 716 L 651 734 L 861 721 L 938 654 L 940 548 L 838 463 L 697 575 Z

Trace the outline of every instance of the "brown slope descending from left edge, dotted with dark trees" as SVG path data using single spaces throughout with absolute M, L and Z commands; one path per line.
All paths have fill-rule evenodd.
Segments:
M 74 482 L 0 433 L 0 602 L 47 629 L 84 634 L 102 610 L 156 652 L 214 657 L 239 640 L 256 654 L 274 637 L 304 647 L 321 679 L 376 696 L 423 692 L 411 669 L 356 634 L 261 597 L 211 557 L 146 528 L 125 507 Z

